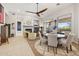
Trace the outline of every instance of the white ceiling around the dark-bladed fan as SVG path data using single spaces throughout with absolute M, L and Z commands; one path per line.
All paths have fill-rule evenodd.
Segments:
M 42 10 L 44 8 L 48 8 L 47 11 L 42 13 L 42 17 L 46 17 L 54 13 L 55 11 L 64 8 L 66 6 L 71 5 L 70 3 L 60 3 L 60 5 L 56 5 L 57 3 L 39 3 L 38 10 Z M 12 13 L 20 13 L 20 14 L 28 14 L 25 11 L 37 11 L 37 5 L 36 3 L 2 3 L 5 10 L 7 12 Z

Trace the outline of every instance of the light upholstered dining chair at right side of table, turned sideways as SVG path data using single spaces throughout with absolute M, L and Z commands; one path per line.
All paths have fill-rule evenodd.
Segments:
M 63 47 L 66 48 L 66 51 L 68 53 L 68 48 L 72 51 L 72 40 L 74 38 L 74 34 L 69 33 L 67 39 L 60 39 L 59 43 L 62 44 Z

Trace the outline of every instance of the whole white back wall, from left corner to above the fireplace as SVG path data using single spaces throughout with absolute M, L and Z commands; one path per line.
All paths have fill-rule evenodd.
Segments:
M 34 20 L 38 20 L 34 15 L 32 14 L 7 14 L 6 16 L 6 23 L 7 24 L 12 24 L 14 23 L 14 29 L 12 29 L 12 25 L 11 25 L 11 34 L 13 33 L 14 36 L 22 36 L 23 35 L 23 31 L 24 31 L 24 25 L 25 26 L 33 26 L 34 25 Z M 20 21 L 21 22 L 21 31 L 17 31 L 17 22 Z M 34 31 L 34 27 L 32 28 L 32 32 Z

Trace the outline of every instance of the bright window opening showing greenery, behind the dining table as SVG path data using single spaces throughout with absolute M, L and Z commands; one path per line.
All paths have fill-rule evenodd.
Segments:
M 71 22 L 58 23 L 58 30 L 70 31 L 71 30 Z

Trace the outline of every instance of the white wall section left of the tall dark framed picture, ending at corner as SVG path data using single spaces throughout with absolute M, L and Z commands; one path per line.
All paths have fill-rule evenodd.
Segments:
M 14 34 L 16 36 L 16 16 L 7 13 L 7 15 L 5 16 L 5 23 L 11 24 L 10 32 L 11 32 L 11 34 Z M 14 29 L 12 29 L 12 23 L 14 23 Z

